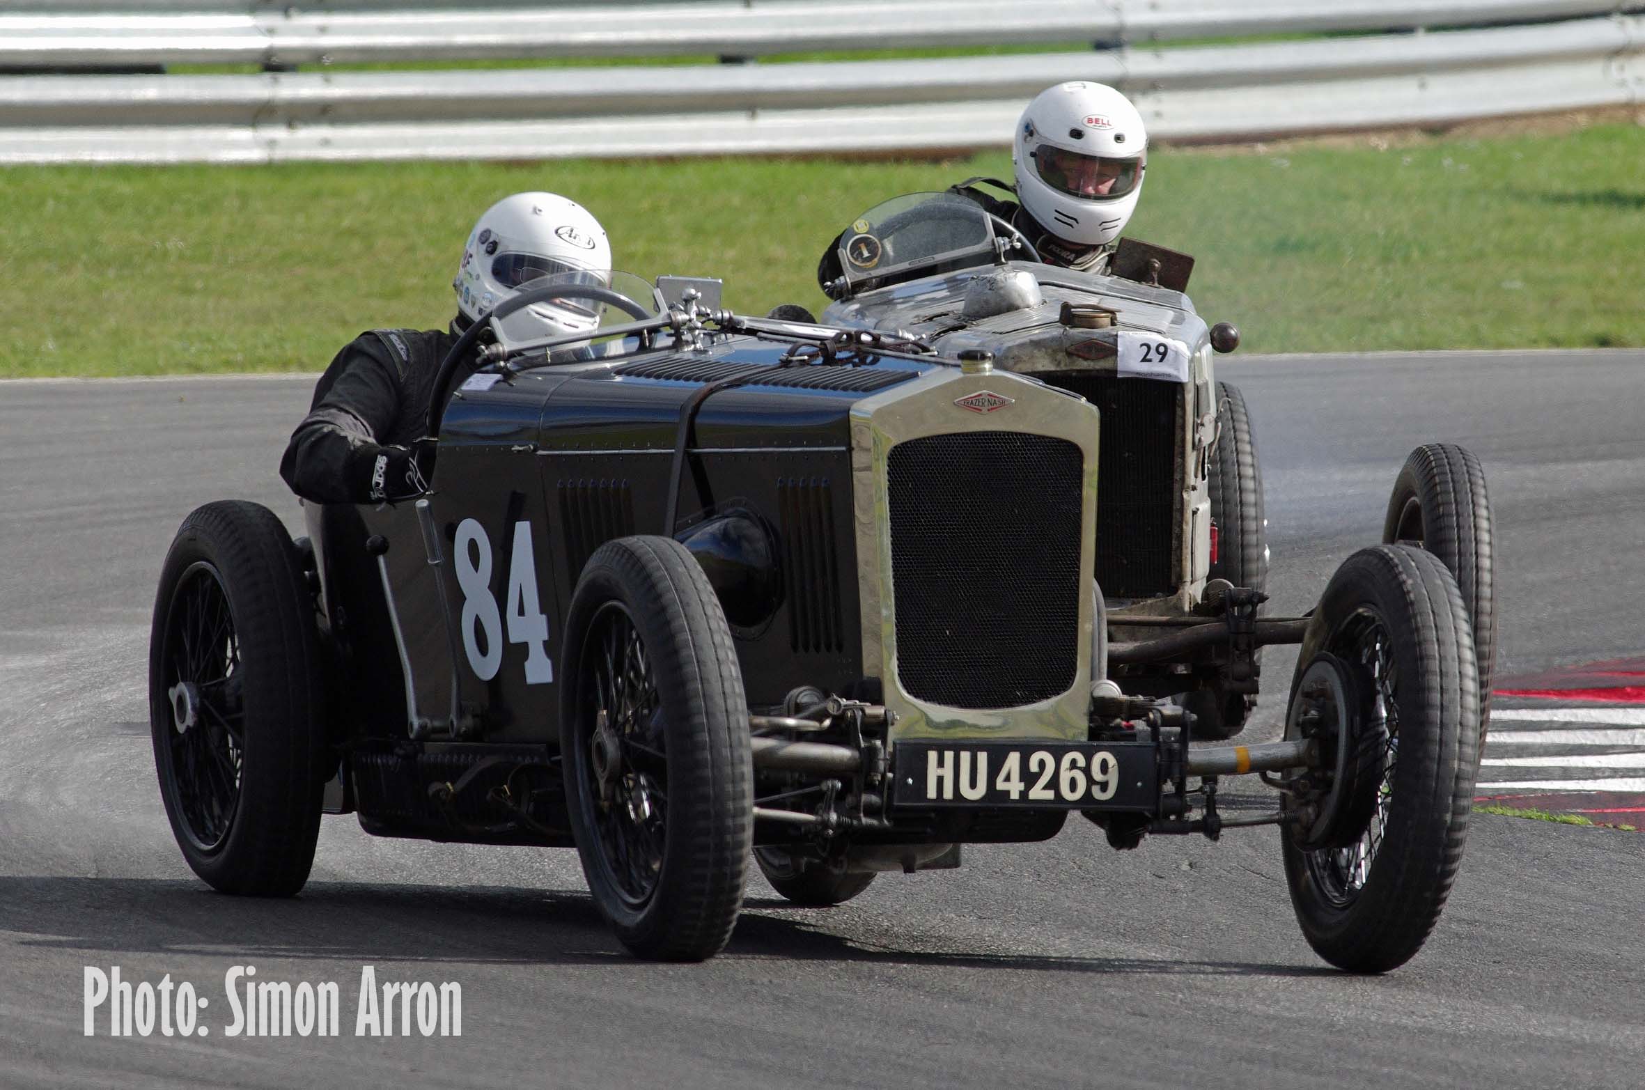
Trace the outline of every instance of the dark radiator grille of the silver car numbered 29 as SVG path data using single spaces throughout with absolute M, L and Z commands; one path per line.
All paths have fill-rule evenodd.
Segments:
M 1183 386 L 1117 375 L 1035 375 L 1102 413 L 1097 582 L 1110 598 L 1176 593 Z

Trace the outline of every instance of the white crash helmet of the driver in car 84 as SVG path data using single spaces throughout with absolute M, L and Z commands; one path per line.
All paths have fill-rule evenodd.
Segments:
M 553 192 L 517 192 L 485 209 L 474 224 L 451 286 L 457 291 L 457 311 L 474 321 L 540 276 L 569 273 L 574 283 L 605 286 L 610 266 L 605 229 L 587 209 Z M 541 335 L 595 329 L 602 311 L 589 299 L 553 299 L 526 309 L 541 326 Z M 510 322 L 520 329 L 521 319 Z

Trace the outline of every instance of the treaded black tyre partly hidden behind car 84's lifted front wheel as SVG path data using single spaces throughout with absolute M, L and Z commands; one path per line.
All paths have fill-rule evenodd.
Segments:
M 1451 442 L 1430 442 L 1411 450 L 1393 482 L 1382 539 L 1421 544 L 1456 577 L 1472 620 L 1484 730 L 1490 718 L 1490 682 L 1497 666 L 1497 605 L 1490 497 L 1479 459 Z

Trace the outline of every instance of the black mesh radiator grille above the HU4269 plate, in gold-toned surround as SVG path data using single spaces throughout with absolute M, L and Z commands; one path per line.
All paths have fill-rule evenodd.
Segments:
M 1010 431 L 892 447 L 897 676 L 962 709 L 1035 704 L 1074 684 L 1081 475 L 1066 439 Z

